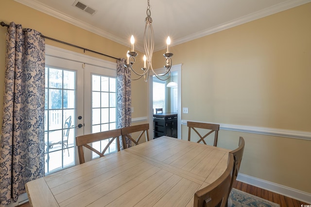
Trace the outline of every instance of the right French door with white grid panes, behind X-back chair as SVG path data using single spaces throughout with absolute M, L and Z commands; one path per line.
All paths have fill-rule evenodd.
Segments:
M 85 134 L 97 133 L 117 128 L 117 73 L 116 70 L 85 64 Z M 109 140 L 110 141 L 110 140 Z M 92 147 L 103 151 L 107 140 L 92 143 Z M 117 150 L 116 140 L 109 146 L 106 153 Z M 96 153 L 86 150 L 85 160 L 99 157 Z

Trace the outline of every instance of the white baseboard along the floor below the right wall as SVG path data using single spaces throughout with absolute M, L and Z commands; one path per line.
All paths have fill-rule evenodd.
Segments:
M 302 201 L 311 204 L 311 193 L 299 191 L 290 187 L 282 186 L 276 183 L 272 183 L 266 180 L 262 180 L 249 175 L 239 173 L 237 180 L 243 183 L 247 183 L 252 186 L 256 186 L 268 191 L 276 192 L 281 195 L 285 195 L 290 198 L 294 198 L 298 201 Z

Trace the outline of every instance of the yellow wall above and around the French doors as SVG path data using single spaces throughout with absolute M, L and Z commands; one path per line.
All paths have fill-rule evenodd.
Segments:
M 52 16 L 31 9 L 23 4 L 17 3 L 14 0 L 1 1 L 0 21 L 6 24 L 14 21 L 16 24 L 21 24 L 23 28 L 32 28 L 41 32 L 45 36 L 54 39 L 62 40 L 83 48 L 88 48 L 98 51 L 113 57 L 125 58 L 126 51 L 129 49 L 121 44 L 118 44 L 109 39 L 103 38 L 92 32 L 88 32 L 79 27 L 73 26 L 65 21 L 59 20 Z M 5 33 L 6 27 L 0 27 L 0 119 L 2 123 L 2 108 L 3 108 L 3 86 L 5 72 Z M 84 53 L 83 50 L 73 48 L 61 43 L 46 39 L 46 44 L 59 48 L 68 49 L 71 51 Z M 130 43 L 129 43 L 130 45 Z M 86 55 L 104 59 L 110 62 L 116 62 L 115 59 L 98 55 L 92 52 L 85 53 Z M 141 55 L 141 54 L 140 54 Z M 132 81 L 132 106 L 135 112 L 133 118 L 143 117 L 147 115 L 147 105 L 141 101 L 147 94 L 147 83 L 142 81 Z M 2 125 L 0 125 L 0 128 Z

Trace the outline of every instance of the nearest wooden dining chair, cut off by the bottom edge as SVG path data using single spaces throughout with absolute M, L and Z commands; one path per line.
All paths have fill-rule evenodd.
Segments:
M 230 181 L 234 165 L 233 154 L 228 153 L 225 172 L 207 187 L 194 193 L 193 207 L 225 207 L 230 191 Z

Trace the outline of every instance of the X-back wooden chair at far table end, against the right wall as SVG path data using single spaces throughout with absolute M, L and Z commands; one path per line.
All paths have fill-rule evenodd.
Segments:
M 217 141 L 218 141 L 218 131 L 219 131 L 219 125 L 218 124 L 209 124 L 209 123 L 201 123 L 201 122 L 187 122 L 187 127 L 189 128 L 188 131 L 188 141 L 190 141 L 190 134 L 191 134 L 191 129 L 197 133 L 197 135 L 200 137 L 200 140 L 197 143 L 200 143 L 201 141 L 205 144 L 205 138 L 210 135 L 211 133 L 215 132 L 214 135 L 214 146 L 217 146 Z M 208 131 L 204 136 L 202 136 L 196 128 L 204 128 L 208 129 Z

